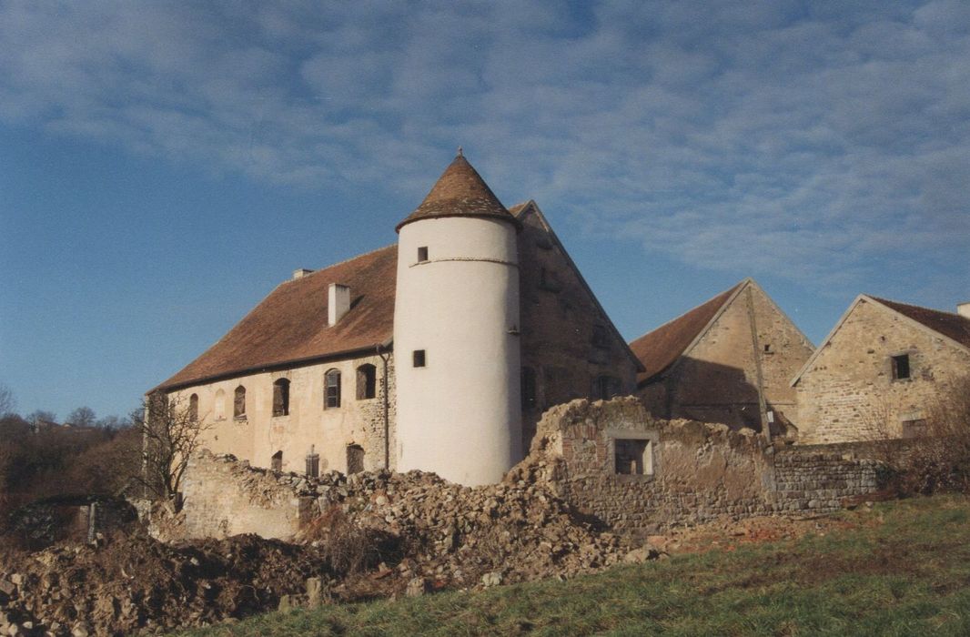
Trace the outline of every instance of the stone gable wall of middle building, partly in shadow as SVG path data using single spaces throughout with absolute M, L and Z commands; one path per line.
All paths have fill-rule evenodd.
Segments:
M 814 348 L 754 281 L 739 288 L 672 366 L 641 382 L 652 414 L 760 431 L 760 388 L 773 430 L 794 420 L 790 383 Z

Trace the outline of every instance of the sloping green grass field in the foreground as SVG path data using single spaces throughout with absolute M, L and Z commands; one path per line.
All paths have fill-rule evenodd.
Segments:
M 970 634 L 970 498 L 840 515 L 857 526 L 567 582 L 273 613 L 185 634 Z

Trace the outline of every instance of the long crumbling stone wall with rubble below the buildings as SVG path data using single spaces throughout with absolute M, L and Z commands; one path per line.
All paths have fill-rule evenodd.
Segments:
M 408 531 L 448 543 L 469 520 L 514 520 L 541 505 L 545 516 L 571 510 L 639 536 L 726 516 L 835 511 L 846 498 L 879 489 L 877 468 L 860 450 L 772 445 L 750 430 L 654 419 L 635 398 L 577 399 L 546 412 L 532 453 L 498 486 L 471 489 L 420 472 L 308 478 L 203 454 L 186 474 L 181 532 L 294 539 L 339 506 L 366 524 L 391 532 L 410 525 Z M 440 522 L 442 511 L 455 515 Z

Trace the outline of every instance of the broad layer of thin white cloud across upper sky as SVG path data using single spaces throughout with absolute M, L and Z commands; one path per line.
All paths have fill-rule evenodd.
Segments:
M 464 143 L 590 232 L 857 286 L 965 261 L 968 32 L 955 1 L 7 3 L 0 118 L 412 198 Z

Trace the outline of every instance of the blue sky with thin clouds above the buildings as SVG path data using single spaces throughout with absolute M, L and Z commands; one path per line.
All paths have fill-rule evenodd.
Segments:
M 970 300 L 970 4 L 0 3 L 0 383 L 125 413 L 463 145 L 620 331 Z

